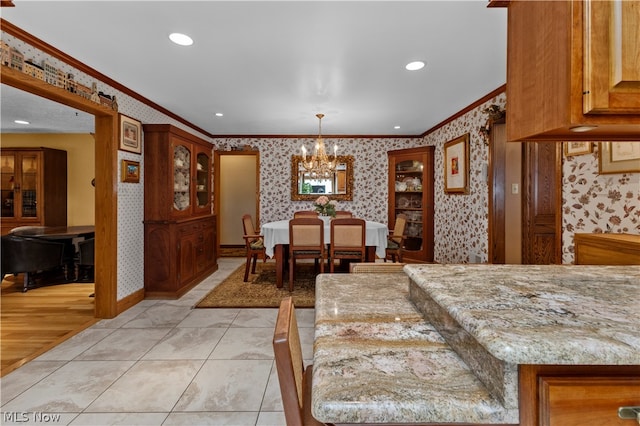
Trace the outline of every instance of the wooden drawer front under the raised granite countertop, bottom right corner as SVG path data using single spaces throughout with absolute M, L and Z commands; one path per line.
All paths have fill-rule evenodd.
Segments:
M 540 380 L 540 424 L 620 425 L 618 408 L 640 405 L 640 377 L 548 377 Z

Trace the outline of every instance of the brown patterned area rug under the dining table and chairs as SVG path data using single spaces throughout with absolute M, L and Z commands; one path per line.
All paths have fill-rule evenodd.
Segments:
M 277 308 L 280 301 L 293 296 L 296 308 L 313 308 L 315 305 L 316 274 L 313 264 L 299 264 L 293 292 L 289 292 L 288 277 L 282 288 L 276 287 L 274 262 L 258 261 L 256 274 L 249 274 L 244 282 L 244 264 L 207 294 L 196 308 Z

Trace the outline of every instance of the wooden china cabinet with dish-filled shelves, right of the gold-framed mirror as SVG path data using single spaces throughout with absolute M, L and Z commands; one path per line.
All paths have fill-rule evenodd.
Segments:
M 403 261 L 433 262 L 434 147 L 389 151 L 389 228 L 407 216 Z

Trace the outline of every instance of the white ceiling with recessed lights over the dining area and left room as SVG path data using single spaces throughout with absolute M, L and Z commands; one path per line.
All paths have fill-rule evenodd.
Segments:
M 419 135 L 506 81 L 506 9 L 486 0 L 14 3 L 7 21 L 213 135 L 315 134 L 316 113 L 327 135 Z

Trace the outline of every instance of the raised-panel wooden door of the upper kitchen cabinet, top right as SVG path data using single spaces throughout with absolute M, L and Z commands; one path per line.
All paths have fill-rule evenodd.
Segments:
M 640 1 L 584 2 L 584 113 L 640 111 Z

